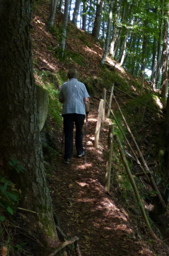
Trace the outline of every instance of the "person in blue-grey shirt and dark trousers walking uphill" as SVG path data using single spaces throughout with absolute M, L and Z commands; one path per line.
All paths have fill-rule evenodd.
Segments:
M 85 84 L 77 81 L 78 72 L 70 69 L 67 74 L 69 81 L 65 82 L 60 89 L 59 101 L 63 103 L 63 131 L 65 134 L 64 163 L 69 164 L 73 153 L 73 127 L 76 126 L 75 146 L 77 157 L 85 155 L 83 151 L 83 133 L 86 113 L 89 113 L 89 94 Z

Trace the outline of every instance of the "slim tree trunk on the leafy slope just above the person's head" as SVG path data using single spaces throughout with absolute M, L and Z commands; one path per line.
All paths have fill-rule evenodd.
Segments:
M 66 28 L 67 28 L 67 22 L 68 22 L 69 3 L 70 3 L 70 0 L 65 0 L 62 41 L 60 43 L 60 48 L 62 49 L 62 57 L 64 56 L 65 43 L 66 43 Z

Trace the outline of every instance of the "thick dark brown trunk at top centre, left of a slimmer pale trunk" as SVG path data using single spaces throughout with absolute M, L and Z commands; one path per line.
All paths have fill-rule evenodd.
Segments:
M 92 31 L 92 35 L 96 39 L 99 39 L 99 35 L 100 35 L 102 9 L 103 9 L 103 1 L 97 0 L 96 16 L 95 16 L 95 22 L 94 22 L 93 31 Z

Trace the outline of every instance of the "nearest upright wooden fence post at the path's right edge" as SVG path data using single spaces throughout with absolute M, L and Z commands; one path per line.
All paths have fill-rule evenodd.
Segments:
M 110 175 L 111 175 L 111 161 L 112 161 L 112 151 L 113 151 L 113 133 L 114 125 L 109 125 L 108 133 L 108 150 L 107 150 L 107 162 L 106 162 L 106 175 L 105 175 L 105 189 L 109 192 L 110 190 Z

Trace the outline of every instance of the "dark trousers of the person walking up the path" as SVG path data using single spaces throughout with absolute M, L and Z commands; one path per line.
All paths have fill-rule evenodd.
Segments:
M 81 114 L 64 114 L 63 115 L 63 130 L 65 134 L 65 155 L 64 158 L 71 158 L 73 153 L 73 128 L 76 126 L 75 146 L 77 154 L 83 152 L 83 133 L 82 127 L 85 121 L 85 115 Z

